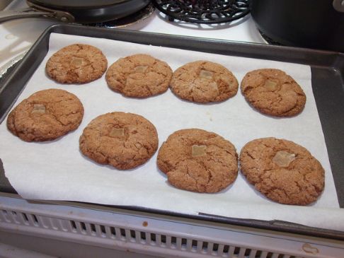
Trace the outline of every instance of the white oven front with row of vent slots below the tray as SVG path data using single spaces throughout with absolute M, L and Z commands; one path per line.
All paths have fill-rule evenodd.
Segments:
M 13 194 L 1 194 L 0 231 L 43 242 L 59 240 L 61 246 L 50 250 L 50 255 L 58 257 L 94 257 L 86 251 L 67 252 L 63 243 L 124 250 L 137 253 L 137 257 L 344 257 L 344 243 L 337 240 L 119 209 L 29 203 Z M 42 251 L 44 243 L 38 240 L 32 245 L 26 242 L 26 247 Z

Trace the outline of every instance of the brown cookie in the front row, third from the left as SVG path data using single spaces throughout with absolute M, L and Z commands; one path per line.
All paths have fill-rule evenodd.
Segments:
M 219 192 L 236 180 L 236 148 L 222 136 L 201 129 L 183 129 L 168 136 L 157 164 L 174 187 L 192 192 Z

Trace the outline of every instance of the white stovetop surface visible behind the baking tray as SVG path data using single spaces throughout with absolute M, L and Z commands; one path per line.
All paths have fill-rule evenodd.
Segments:
M 23 0 L 14 0 L 5 10 L 25 8 Z M 0 23 L 0 68 L 27 51 L 40 34 L 50 25 L 58 23 L 46 18 L 22 18 Z M 220 40 L 265 43 L 250 15 L 231 23 L 195 24 L 170 21 L 158 10 L 143 20 L 121 26 L 124 30 L 140 30 L 151 33 L 207 37 Z

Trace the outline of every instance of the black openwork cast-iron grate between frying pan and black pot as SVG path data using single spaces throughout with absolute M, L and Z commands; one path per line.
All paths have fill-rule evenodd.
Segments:
M 228 23 L 250 12 L 250 0 L 152 0 L 169 20 L 188 23 Z

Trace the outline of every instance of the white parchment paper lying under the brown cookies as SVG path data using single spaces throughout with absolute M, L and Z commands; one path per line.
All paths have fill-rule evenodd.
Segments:
M 144 100 L 124 98 L 111 91 L 104 78 L 86 85 L 61 85 L 51 81 L 45 76 L 47 59 L 61 47 L 76 42 L 102 49 L 109 65 L 119 57 L 137 53 L 151 54 L 167 61 L 173 70 L 189 61 L 207 59 L 227 66 L 239 81 L 247 71 L 253 69 L 283 69 L 302 85 L 307 96 L 306 107 L 297 117 L 272 118 L 253 110 L 241 93 L 225 102 L 198 105 L 176 98 L 170 90 Z M 62 139 L 45 143 L 25 143 L 7 131 L 6 123 L 1 124 L 0 158 L 6 177 L 25 199 L 143 206 L 187 214 L 210 213 L 234 218 L 290 221 L 336 230 L 344 228 L 338 226 L 344 225 L 343 210 L 338 208 L 326 145 L 311 90 L 309 66 L 52 34 L 50 52 L 18 102 L 46 88 L 62 88 L 76 94 L 84 104 L 85 116 L 79 129 Z M 79 136 L 91 119 L 113 111 L 134 112 L 149 119 L 158 130 L 159 146 L 169 134 L 183 128 L 214 131 L 234 143 L 238 153 L 252 139 L 266 136 L 289 139 L 306 147 L 319 159 L 326 170 L 325 191 L 319 201 L 310 206 L 285 206 L 265 199 L 240 174 L 234 184 L 217 194 L 197 194 L 175 189 L 156 168 L 156 154 L 148 163 L 134 170 L 119 171 L 107 165 L 98 165 L 79 152 Z

